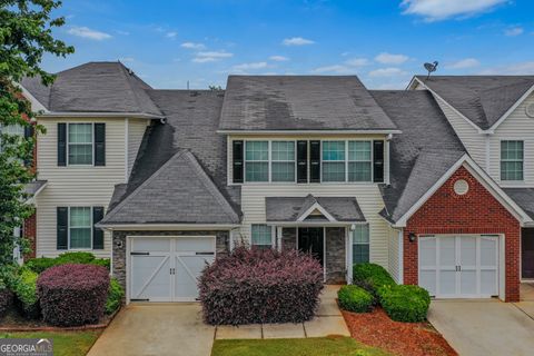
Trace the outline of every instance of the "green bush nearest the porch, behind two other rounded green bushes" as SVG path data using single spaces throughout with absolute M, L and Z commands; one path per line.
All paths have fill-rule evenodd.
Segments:
M 353 266 L 353 283 L 369 291 L 379 301 L 379 289 L 385 286 L 395 286 L 389 273 L 376 264 L 356 264 Z

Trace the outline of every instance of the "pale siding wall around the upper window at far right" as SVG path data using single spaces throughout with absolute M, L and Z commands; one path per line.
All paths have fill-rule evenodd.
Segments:
M 503 187 L 534 187 L 534 118 L 526 107 L 534 103 L 534 93 L 526 98 L 490 136 L 490 176 Z M 524 181 L 501 181 L 501 140 L 524 141 Z

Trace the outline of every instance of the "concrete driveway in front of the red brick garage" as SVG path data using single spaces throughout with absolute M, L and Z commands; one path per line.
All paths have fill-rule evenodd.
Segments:
M 534 301 L 433 300 L 428 320 L 461 356 L 534 355 Z

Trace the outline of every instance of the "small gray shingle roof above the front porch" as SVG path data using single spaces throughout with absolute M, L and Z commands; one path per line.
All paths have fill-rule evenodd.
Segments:
M 365 216 L 354 197 L 267 197 L 267 221 L 295 222 L 315 202 L 318 202 L 337 221 L 365 221 Z

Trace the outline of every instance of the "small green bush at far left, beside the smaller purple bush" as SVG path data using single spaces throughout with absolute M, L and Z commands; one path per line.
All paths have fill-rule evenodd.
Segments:
M 22 314 L 28 318 L 40 316 L 39 297 L 37 294 L 38 274 L 28 268 L 21 268 L 19 276 L 12 286 L 17 297 L 16 304 Z

